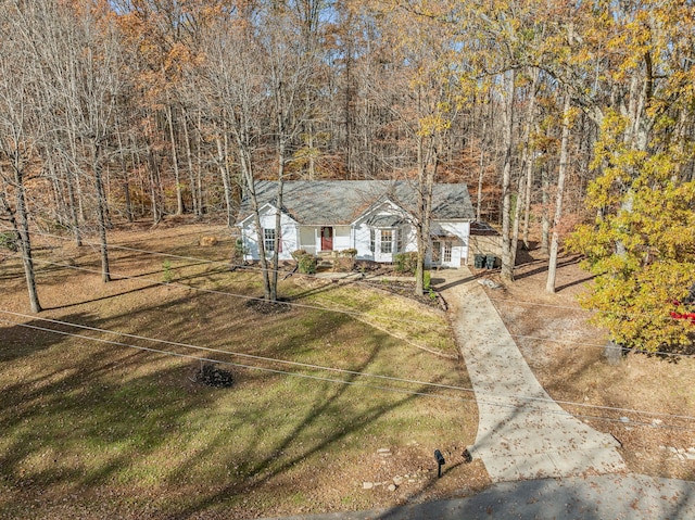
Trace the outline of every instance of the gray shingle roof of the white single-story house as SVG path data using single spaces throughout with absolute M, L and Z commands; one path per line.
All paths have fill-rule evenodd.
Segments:
M 274 204 L 277 182 L 256 182 L 258 205 Z M 387 180 L 296 180 L 285 182 L 282 206 L 294 220 L 305 225 L 350 224 L 379 200 L 390 199 L 415 214 L 416 185 Z M 239 220 L 251 215 L 251 203 L 244 199 Z M 473 219 L 475 212 L 466 185 L 434 185 L 432 216 L 439 220 Z

